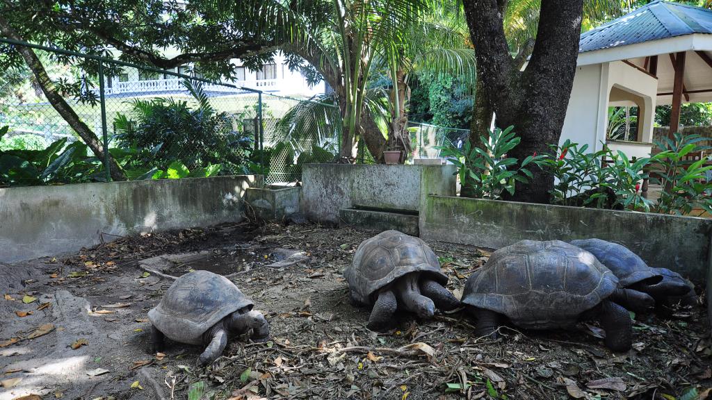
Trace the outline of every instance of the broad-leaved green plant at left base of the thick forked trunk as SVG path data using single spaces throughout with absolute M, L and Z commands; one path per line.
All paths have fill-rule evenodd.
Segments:
M 456 174 L 460 183 L 473 188 L 474 197 L 499 199 L 505 190 L 514 194 L 515 181 L 528 183 L 532 173 L 525 167 L 543 158 L 529 156 L 518 165 L 517 159 L 506 157 L 507 152 L 520 142 L 513 129 L 513 126 L 506 130 L 496 128 L 490 132 L 489 140 L 480 137 L 482 148 L 473 147 L 469 141 L 461 149 L 452 144 L 436 148 L 441 149 L 441 155 L 458 167 Z

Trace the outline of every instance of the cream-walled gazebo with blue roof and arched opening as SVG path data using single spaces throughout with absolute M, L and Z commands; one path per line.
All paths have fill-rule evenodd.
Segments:
M 656 105 L 672 105 L 670 135 L 684 102 L 712 101 L 712 10 L 655 0 L 583 33 L 562 130 L 599 150 L 606 143 L 629 157 L 652 148 Z M 635 140 L 607 137 L 608 107 L 637 106 Z

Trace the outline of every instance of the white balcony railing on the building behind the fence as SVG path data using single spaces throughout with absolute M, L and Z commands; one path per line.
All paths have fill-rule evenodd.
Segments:
M 278 90 L 280 81 L 277 79 L 269 80 L 238 80 L 231 85 L 241 88 L 249 88 L 255 90 Z M 240 88 L 231 88 L 225 85 L 203 85 L 203 89 L 211 92 L 227 92 L 239 93 L 244 90 Z M 132 80 L 129 82 L 118 82 L 112 85 L 112 88 L 106 88 L 106 94 L 117 95 L 121 93 L 150 93 L 150 92 L 167 92 L 186 90 L 182 79 L 156 79 L 156 80 Z

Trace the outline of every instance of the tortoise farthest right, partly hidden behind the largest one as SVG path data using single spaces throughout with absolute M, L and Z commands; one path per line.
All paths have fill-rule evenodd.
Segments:
M 571 241 L 571 244 L 596 256 L 618 277 L 622 288 L 647 293 L 655 299 L 657 305 L 669 302 L 671 297 L 686 296 L 692 290 L 689 282 L 678 273 L 667 268 L 651 268 L 636 253 L 618 243 L 591 238 Z

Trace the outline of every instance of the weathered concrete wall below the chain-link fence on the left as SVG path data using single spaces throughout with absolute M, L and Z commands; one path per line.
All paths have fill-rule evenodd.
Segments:
M 241 221 L 242 197 L 253 181 L 238 176 L 0 189 L 0 262 L 93 246 L 101 233 Z

